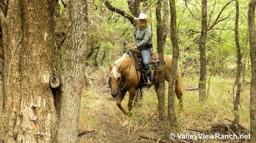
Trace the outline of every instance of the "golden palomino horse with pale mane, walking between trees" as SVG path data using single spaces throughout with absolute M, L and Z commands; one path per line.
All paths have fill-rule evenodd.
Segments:
M 164 78 L 169 81 L 170 72 L 172 68 L 172 55 L 164 54 L 164 60 L 166 65 L 164 67 Z M 140 83 L 141 72 L 136 69 L 135 64 L 133 63 L 132 57 L 130 54 L 124 54 L 120 59 L 118 59 L 113 66 L 110 66 L 110 75 L 109 82 L 111 87 L 111 95 L 113 98 L 117 99 L 117 106 L 122 110 L 122 112 L 127 115 L 133 107 L 133 101 L 135 97 L 135 91 Z M 152 72 L 154 73 L 154 72 Z M 159 74 L 156 75 L 155 79 L 155 91 L 157 93 L 159 89 Z M 125 93 L 129 92 L 129 101 L 127 107 L 129 111 L 125 110 L 121 101 L 123 100 Z M 180 107 L 182 109 L 182 95 L 184 95 L 185 90 L 182 84 L 180 67 L 178 66 L 178 73 L 175 85 L 175 93 L 177 98 L 179 99 Z M 158 107 L 155 111 L 155 116 L 158 115 Z

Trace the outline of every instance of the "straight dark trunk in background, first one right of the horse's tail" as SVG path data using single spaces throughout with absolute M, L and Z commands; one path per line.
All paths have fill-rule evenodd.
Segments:
M 200 50 L 200 78 L 199 78 L 199 101 L 206 99 L 206 36 L 207 36 L 207 0 L 202 0 L 202 30 L 199 40 Z

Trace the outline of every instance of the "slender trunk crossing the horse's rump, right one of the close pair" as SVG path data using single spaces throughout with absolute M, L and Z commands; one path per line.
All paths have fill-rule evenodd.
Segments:
M 176 7 L 175 0 L 170 0 L 170 37 L 173 43 L 172 72 L 170 73 L 168 91 L 168 118 L 170 120 L 170 131 L 176 133 L 178 130 L 177 118 L 175 113 L 175 82 L 179 60 L 179 44 L 176 33 Z

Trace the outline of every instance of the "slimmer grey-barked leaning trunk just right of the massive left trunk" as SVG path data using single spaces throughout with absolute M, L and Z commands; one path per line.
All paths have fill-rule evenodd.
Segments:
M 88 42 L 87 1 L 70 1 L 71 49 L 63 93 L 61 98 L 60 119 L 57 142 L 77 142 L 79 110 L 84 88 L 86 49 Z

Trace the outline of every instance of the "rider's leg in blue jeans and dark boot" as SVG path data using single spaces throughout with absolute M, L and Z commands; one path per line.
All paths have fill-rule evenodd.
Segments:
M 145 48 L 138 48 L 140 50 L 141 59 L 143 62 L 144 71 L 147 74 L 148 78 L 150 78 L 150 82 L 153 83 L 152 78 L 152 69 L 150 66 L 150 57 L 151 57 L 151 49 L 145 49 Z

